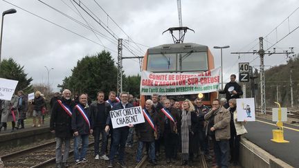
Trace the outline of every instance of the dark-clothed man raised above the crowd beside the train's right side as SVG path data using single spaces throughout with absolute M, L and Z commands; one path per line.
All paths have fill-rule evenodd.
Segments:
M 239 86 L 235 80 L 236 75 L 230 75 L 230 82 L 226 84 L 223 91 L 219 91 L 220 94 L 226 94 L 227 101 L 230 99 L 237 99 L 240 95 L 243 95 L 241 86 Z

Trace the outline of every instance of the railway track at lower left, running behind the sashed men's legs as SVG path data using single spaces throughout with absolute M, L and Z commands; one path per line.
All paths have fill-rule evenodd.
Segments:
M 93 142 L 89 143 L 89 147 Z M 21 151 L 9 153 L 0 156 L 5 167 L 46 167 L 48 165 L 55 165 L 55 146 L 56 142 L 48 142 L 40 144 L 35 147 L 30 147 Z M 71 147 L 73 144 L 71 143 Z M 70 155 L 73 149 L 70 151 Z

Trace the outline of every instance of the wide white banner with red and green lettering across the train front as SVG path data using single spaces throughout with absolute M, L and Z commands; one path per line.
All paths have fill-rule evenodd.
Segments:
M 220 68 L 202 73 L 141 73 L 141 95 L 190 95 L 219 88 Z

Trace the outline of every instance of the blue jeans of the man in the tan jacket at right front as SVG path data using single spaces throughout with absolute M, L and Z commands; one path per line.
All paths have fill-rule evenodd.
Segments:
M 228 167 L 228 156 L 230 154 L 230 147 L 228 140 L 215 141 L 214 144 L 215 156 L 217 160 L 217 166 L 221 168 Z

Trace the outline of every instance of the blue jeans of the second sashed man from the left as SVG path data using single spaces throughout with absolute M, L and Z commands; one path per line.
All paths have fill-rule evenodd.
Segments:
M 79 153 L 79 144 L 82 140 L 81 152 Z M 89 144 L 89 135 L 79 135 L 74 138 L 74 158 L 75 160 L 82 160 L 87 154 Z

